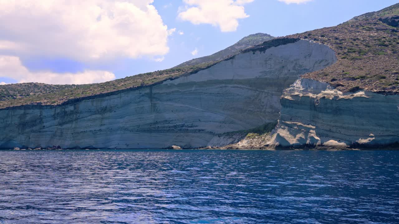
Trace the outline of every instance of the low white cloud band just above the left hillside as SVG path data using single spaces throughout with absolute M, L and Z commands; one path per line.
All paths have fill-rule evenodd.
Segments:
M 6 55 L 0 55 L 0 77 L 15 79 L 19 83 L 47 84 L 89 84 L 115 79 L 115 75 L 107 71 L 87 70 L 79 73 L 31 72 L 22 65 L 19 57 Z

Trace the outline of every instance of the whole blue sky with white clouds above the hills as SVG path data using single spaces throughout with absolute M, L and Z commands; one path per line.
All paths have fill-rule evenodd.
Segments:
M 0 84 L 87 84 L 174 67 L 253 33 L 336 26 L 398 0 L 0 0 Z

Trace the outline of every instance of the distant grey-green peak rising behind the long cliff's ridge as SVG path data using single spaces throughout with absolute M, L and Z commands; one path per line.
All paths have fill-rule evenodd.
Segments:
M 226 49 L 223 49 L 221 51 L 218 51 L 214 53 L 213 55 L 205 56 L 205 57 L 199 57 L 196 59 L 192 59 L 190 61 L 186 61 L 175 68 L 178 67 L 184 67 L 188 65 L 198 65 L 200 63 L 205 63 L 205 62 L 211 62 L 211 61 L 220 61 L 223 59 L 226 59 L 227 57 L 231 55 L 235 55 L 239 53 L 243 49 L 247 49 L 248 47 L 259 45 L 265 41 L 274 39 L 275 37 L 266 34 L 266 33 L 255 33 L 251 34 L 249 36 L 244 37 L 237 43 L 231 45 L 230 47 L 227 47 Z

